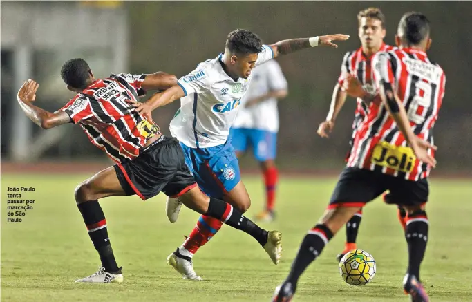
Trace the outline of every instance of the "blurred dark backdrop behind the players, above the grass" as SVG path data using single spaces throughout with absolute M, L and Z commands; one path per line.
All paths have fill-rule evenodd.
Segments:
M 277 162 L 285 171 L 339 171 L 349 146 L 355 100 L 348 99 L 330 139 L 319 138 L 341 60 L 359 48 L 357 12 L 377 6 L 386 15 L 386 43 L 393 44 L 404 12 L 431 20 L 431 59 L 446 73 L 446 95 L 435 126 L 437 173 L 471 176 L 472 3 L 467 1 L 2 1 L 1 160 L 6 162 L 98 162 L 111 164 L 73 125 L 44 131 L 19 109 L 16 94 L 28 78 L 40 84 L 37 105 L 56 111 L 73 97 L 59 70 L 82 57 L 96 77 L 111 73 L 186 75 L 223 50 L 235 28 L 258 34 L 266 44 L 294 37 L 344 33 L 339 48 L 315 48 L 277 59 L 289 84 L 279 102 Z M 153 113 L 162 131 L 179 102 Z M 248 154 L 249 155 L 249 154 Z M 251 169 L 251 156 L 241 161 Z

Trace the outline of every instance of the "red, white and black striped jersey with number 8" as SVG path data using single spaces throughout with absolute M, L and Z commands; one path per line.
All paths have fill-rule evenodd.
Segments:
M 433 126 L 446 84 L 442 68 L 426 53 L 412 48 L 379 52 L 372 58 L 372 68 L 375 89 L 382 81 L 393 84 L 415 135 L 433 144 Z M 434 155 L 433 150 L 428 152 Z M 426 178 L 431 170 L 406 146 L 404 135 L 378 95 L 357 129 L 348 166 L 406 180 Z

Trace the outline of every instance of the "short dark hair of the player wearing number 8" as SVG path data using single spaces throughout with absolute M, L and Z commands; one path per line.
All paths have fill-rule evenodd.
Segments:
M 429 20 L 421 12 L 406 12 L 398 29 L 402 30 L 408 44 L 418 45 L 429 35 Z

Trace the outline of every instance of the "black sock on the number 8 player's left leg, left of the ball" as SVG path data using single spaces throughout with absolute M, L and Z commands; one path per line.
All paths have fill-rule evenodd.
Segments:
M 321 254 L 321 251 L 323 251 L 323 248 L 332 236 L 332 232 L 326 225 L 315 225 L 306 234 L 300 245 L 299 252 L 292 263 L 290 274 L 287 277 L 287 281 L 292 283 L 292 287 L 296 287 L 301 274 Z

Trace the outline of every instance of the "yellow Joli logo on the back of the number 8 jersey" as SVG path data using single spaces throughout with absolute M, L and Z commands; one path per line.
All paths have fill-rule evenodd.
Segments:
M 410 147 L 395 146 L 388 142 L 380 142 L 372 152 L 372 163 L 400 172 L 411 172 L 416 156 Z

